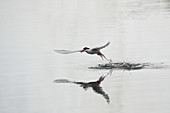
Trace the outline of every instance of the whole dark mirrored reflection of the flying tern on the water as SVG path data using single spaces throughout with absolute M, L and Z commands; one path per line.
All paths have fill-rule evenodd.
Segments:
M 107 76 L 107 75 L 106 75 Z M 106 76 L 101 76 L 98 80 L 96 81 L 92 81 L 92 82 L 76 82 L 76 81 L 70 81 L 67 79 L 56 79 L 54 80 L 55 83 L 74 83 L 74 84 L 79 84 L 80 87 L 82 87 L 83 89 L 87 90 L 88 88 L 92 88 L 94 90 L 94 92 L 96 92 L 97 94 L 101 94 L 106 101 L 109 103 L 110 99 L 108 94 L 106 94 L 102 87 L 100 86 L 101 82 L 104 81 Z

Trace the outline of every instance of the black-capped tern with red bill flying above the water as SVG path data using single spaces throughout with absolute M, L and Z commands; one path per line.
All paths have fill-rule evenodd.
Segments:
M 70 51 L 70 50 L 54 50 L 57 53 L 60 54 L 71 54 L 71 53 L 76 53 L 76 52 L 86 52 L 87 54 L 93 55 L 93 54 L 97 54 L 98 56 L 100 56 L 102 59 L 106 59 L 109 61 L 109 59 L 107 59 L 101 52 L 100 50 L 107 47 L 110 44 L 110 42 L 108 42 L 107 44 L 100 46 L 100 47 L 94 47 L 94 48 L 89 48 L 89 47 L 84 47 L 82 50 L 76 50 L 76 51 Z

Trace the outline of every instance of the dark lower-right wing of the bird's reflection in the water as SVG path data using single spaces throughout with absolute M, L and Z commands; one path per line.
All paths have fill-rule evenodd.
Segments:
M 94 90 L 96 93 L 101 94 L 101 95 L 106 99 L 106 101 L 107 101 L 108 103 L 110 102 L 110 98 L 109 98 L 108 94 L 106 94 L 106 93 L 103 91 L 102 87 L 100 87 L 100 86 L 92 86 L 92 88 L 93 88 L 93 90 Z

